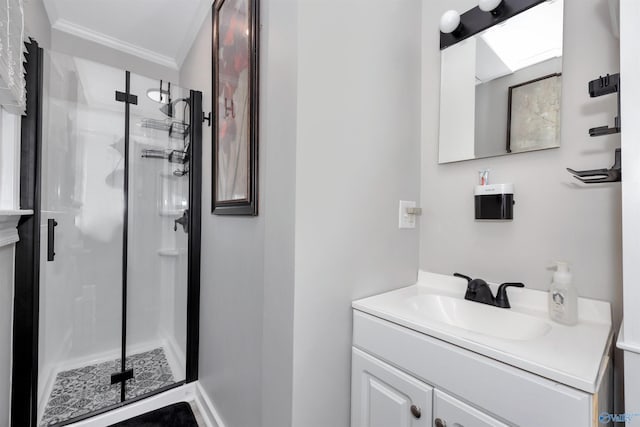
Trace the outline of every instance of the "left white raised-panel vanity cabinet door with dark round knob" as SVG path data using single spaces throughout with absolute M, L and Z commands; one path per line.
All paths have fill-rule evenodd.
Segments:
M 351 427 L 428 427 L 433 388 L 353 348 Z

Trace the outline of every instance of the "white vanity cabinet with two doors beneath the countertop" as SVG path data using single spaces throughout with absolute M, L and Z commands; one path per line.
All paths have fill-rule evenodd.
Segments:
M 358 310 L 353 317 L 351 427 L 597 427 L 611 407 L 608 357 L 591 394 Z

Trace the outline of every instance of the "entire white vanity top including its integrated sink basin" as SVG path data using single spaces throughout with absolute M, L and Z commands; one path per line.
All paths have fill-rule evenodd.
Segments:
M 495 295 L 497 286 L 490 284 Z M 611 337 L 607 302 L 578 299 L 579 322 L 549 319 L 548 293 L 509 289 L 510 309 L 467 301 L 467 281 L 421 271 L 413 286 L 353 302 L 353 308 L 511 366 L 594 393 Z

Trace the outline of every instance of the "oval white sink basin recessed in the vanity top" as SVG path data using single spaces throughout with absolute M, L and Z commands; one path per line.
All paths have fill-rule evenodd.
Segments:
M 540 318 L 445 295 L 415 295 L 407 303 L 418 316 L 496 338 L 531 340 L 551 330 Z

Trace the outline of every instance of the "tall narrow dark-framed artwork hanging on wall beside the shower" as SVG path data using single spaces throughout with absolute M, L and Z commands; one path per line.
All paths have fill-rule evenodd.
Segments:
M 258 0 L 213 5 L 211 211 L 258 214 Z

